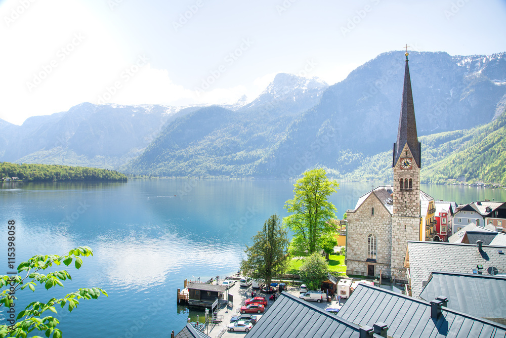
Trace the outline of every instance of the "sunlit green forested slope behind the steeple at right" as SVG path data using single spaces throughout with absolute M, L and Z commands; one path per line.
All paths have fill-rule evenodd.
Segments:
M 422 183 L 497 183 L 506 186 L 506 111 L 471 130 L 422 136 Z M 392 181 L 392 150 L 365 157 L 351 181 Z

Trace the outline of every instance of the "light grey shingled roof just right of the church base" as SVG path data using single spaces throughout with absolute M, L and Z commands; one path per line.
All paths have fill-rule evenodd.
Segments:
M 408 241 L 409 274 L 411 293 L 418 297 L 432 271 L 472 273 L 478 264 L 483 265 L 483 274 L 489 274 L 489 267 L 506 273 L 506 246 L 482 245 L 479 251 L 476 244 Z

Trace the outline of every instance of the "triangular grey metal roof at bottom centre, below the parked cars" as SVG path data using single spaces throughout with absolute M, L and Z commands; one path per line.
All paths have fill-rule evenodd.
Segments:
M 246 335 L 247 338 L 359 336 L 357 325 L 284 291 Z

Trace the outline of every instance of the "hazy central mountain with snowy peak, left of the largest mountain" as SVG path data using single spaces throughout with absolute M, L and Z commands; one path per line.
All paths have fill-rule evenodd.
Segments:
M 121 169 L 155 176 L 255 177 L 287 126 L 314 106 L 327 87 L 318 78 L 278 74 L 257 99 L 237 111 L 205 107 L 176 119 Z

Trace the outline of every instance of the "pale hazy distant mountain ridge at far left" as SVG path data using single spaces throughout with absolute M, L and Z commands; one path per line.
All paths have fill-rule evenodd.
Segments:
M 115 168 L 142 152 L 163 124 L 183 111 L 81 103 L 66 112 L 30 117 L 21 126 L 2 124 L 6 142 L 0 139 L 0 160 Z

